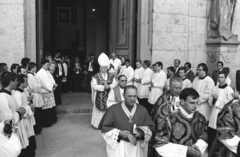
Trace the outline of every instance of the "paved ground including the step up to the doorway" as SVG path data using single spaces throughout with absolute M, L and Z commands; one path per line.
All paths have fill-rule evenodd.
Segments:
M 91 95 L 66 93 L 62 97 L 58 122 L 36 136 L 36 157 L 106 157 L 100 131 L 90 125 L 91 113 L 77 112 L 92 108 Z

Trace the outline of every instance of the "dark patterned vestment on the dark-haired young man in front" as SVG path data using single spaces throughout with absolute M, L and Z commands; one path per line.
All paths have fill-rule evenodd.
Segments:
M 207 122 L 205 117 L 196 111 L 192 118 L 187 118 L 178 109 L 159 124 L 154 148 L 161 147 L 169 142 L 192 146 L 198 139 L 207 143 Z

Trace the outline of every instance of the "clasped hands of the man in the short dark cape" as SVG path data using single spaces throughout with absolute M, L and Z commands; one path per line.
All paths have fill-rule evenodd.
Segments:
M 130 133 L 129 131 L 123 130 L 123 131 L 120 131 L 119 136 L 123 139 L 128 139 L 130 141 L 130 143 L 132 143 L 133 145 L 136 146 L 137 141 L 144 137 L 144 133 L 140 129 L 138 129 L 137 135 L 134 135 L 134 134 Z

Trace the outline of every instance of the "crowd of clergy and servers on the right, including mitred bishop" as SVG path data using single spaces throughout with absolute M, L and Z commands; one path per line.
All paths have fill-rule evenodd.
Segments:
M 163 71 L 162 62 L 111 59 L 102 53 L 91 79 L 91 124 L 100 129 L 108 157 L 237 157 L 240 154 L 240 96 L 229 68 L 217 62 Z

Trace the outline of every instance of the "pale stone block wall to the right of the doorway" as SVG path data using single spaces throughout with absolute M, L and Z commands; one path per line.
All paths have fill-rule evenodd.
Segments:
M 240 36 L 239 3 L 235 11 L 233 32 Z M 187 61 L 191 62 L 195 72 L 200 62 L 208 62 L 205 42 L 210 4 L 211 0 L 154 0 L 153 63 L 162 61 L 166 69 L 178 58 L 182 61 L 181 65 Z M 240 48 L 238 52 L 239 50 Z M 236 64 L 236 68 L 239 68 L 239 60 L 240 55 L 237 53 L 231 64 Z M 230 76 L 234 79 L 235 69 Z

